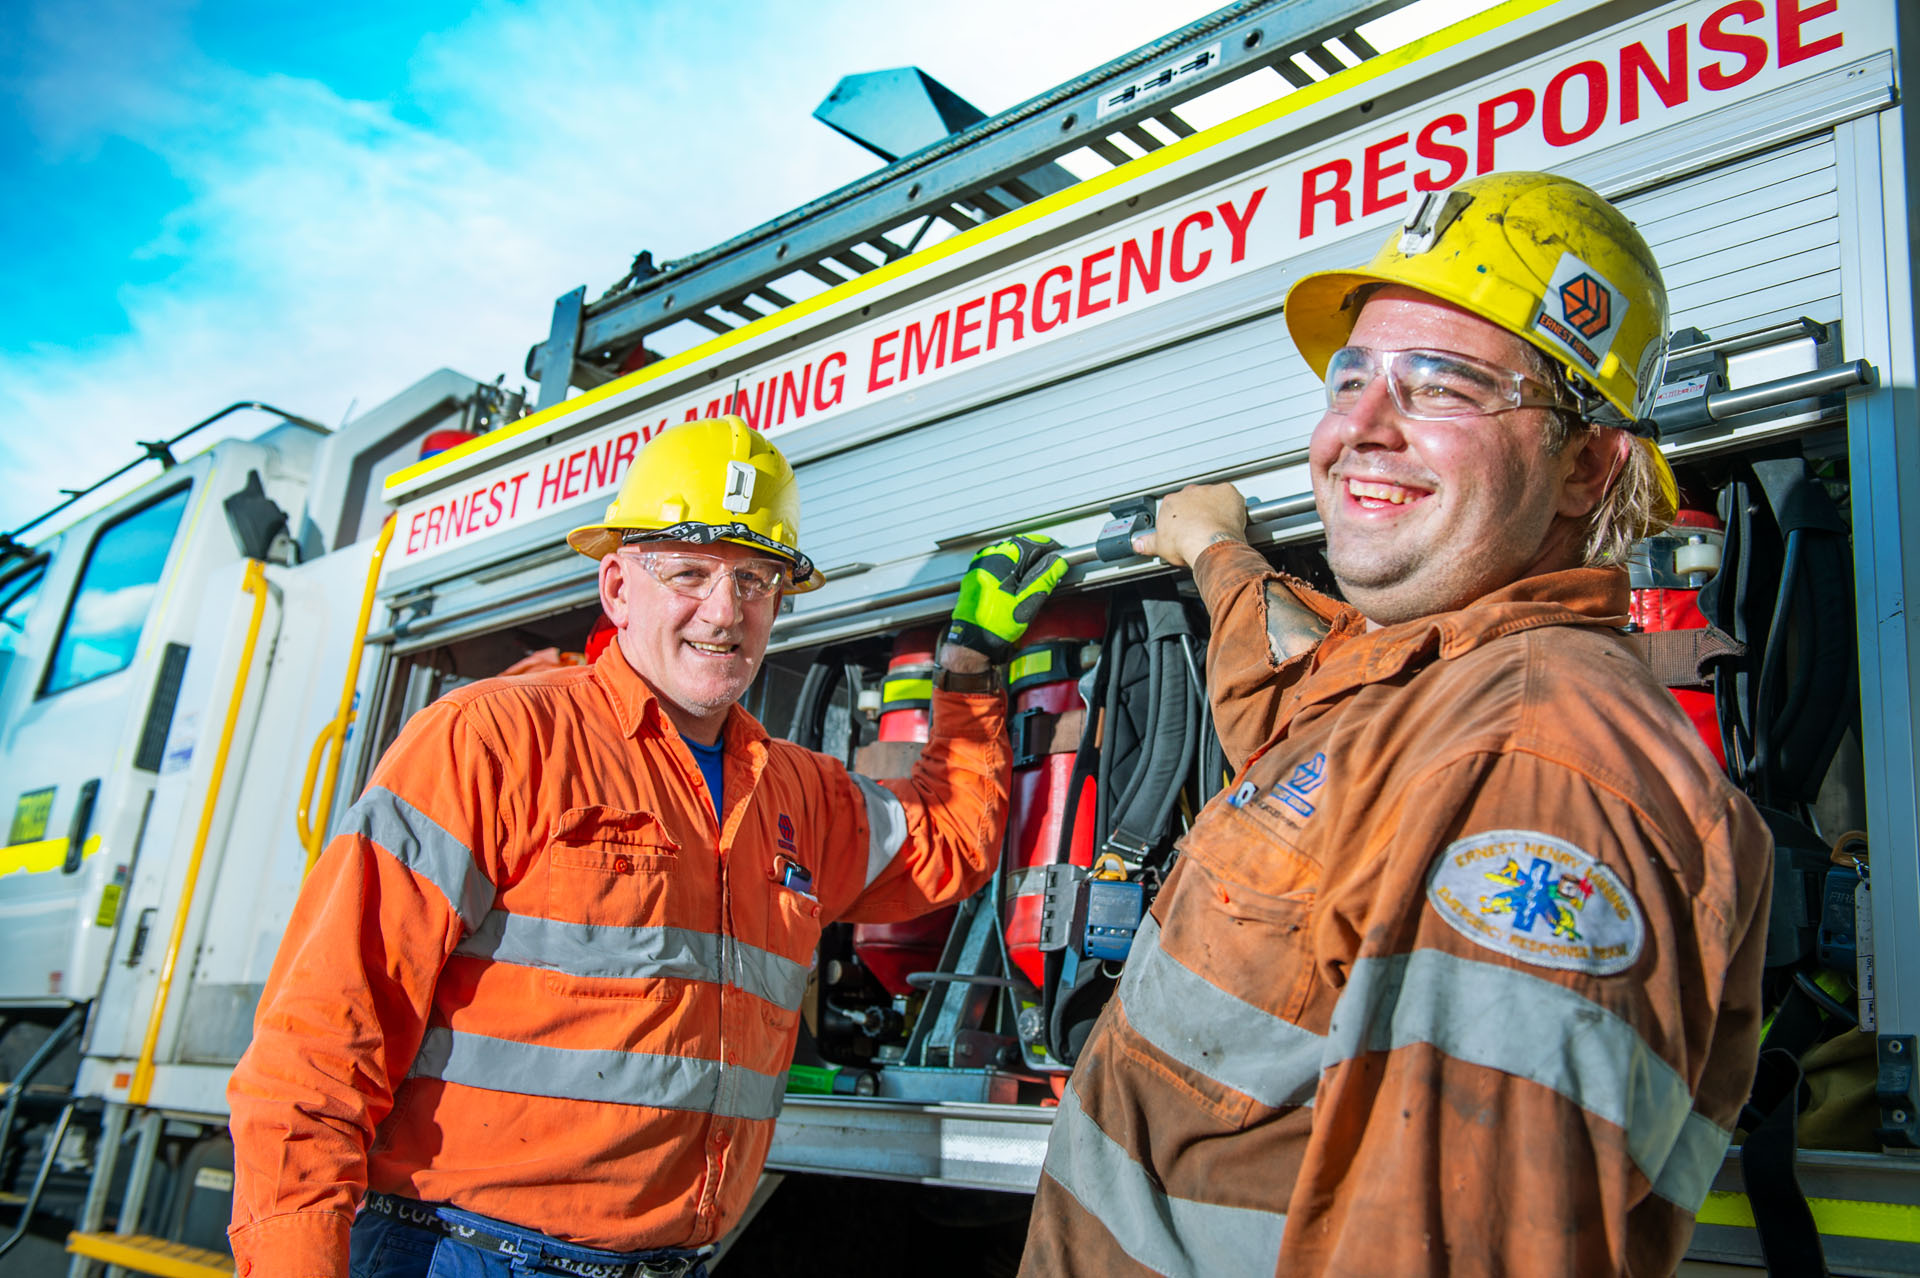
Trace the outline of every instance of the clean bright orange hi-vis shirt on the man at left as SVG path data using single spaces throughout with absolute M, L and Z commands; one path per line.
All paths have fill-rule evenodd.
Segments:
M 912 775 L 726 723 L 726 819 L 616 645 L 417 714 L 301 888 L 228 1086 L 242 1274 L 344 1274 L 367 1188 L 612 1251 L 753 1194 L 820 927 L 970 896 L 1004 697 L 933 695 Z

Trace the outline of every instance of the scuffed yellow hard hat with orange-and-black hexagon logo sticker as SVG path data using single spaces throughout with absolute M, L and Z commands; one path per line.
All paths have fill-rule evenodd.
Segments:
M 1369 284 L 1402 284 L 1498 324 L 1551 359 L 1580 414 L 1640 438 L 1665 514 L 1678 503 L 1651 420 L 1667 353 L 1667 286 L 1634 225 L 1551 173 L 1490 173 L 1417 200 L 1359 271 L 1317 271 L 1286 292 L 1286 330 L 1317 376 L 1346 345 Z

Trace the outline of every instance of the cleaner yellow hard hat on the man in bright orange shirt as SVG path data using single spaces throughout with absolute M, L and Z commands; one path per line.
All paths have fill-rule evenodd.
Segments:
M 603 558 L 626 541 L 732 541 L 793 564 L 787 593 L 826 583 L 801 555 L 801 489 L 793 466 L 739 416 L 668 426 L 639 449 L 607 518 L 566 533 Z

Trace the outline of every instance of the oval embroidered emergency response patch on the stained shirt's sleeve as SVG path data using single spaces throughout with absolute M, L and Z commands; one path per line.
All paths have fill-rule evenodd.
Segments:
M 1640 902 L 1617 873 L 1532 829 L 1450 842 L 1427 875 L 1427 900 L 1488 950 L 1594 977 L 1632 967 L 1647 938 Z

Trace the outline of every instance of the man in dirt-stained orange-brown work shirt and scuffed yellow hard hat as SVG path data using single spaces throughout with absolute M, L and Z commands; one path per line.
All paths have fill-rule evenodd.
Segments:
M 1674 507 L 1659 271 L 1588 188 L 1490 175 L 1286 322 L 1348 604 L 1269 572 L 1229 485 L 1137 543 L 1194 570 L 1240 775 L 1079 1059 L 1023 1272 L 1672 1272 L 1753 1078 L 1772 862 L 1617 633 Z

